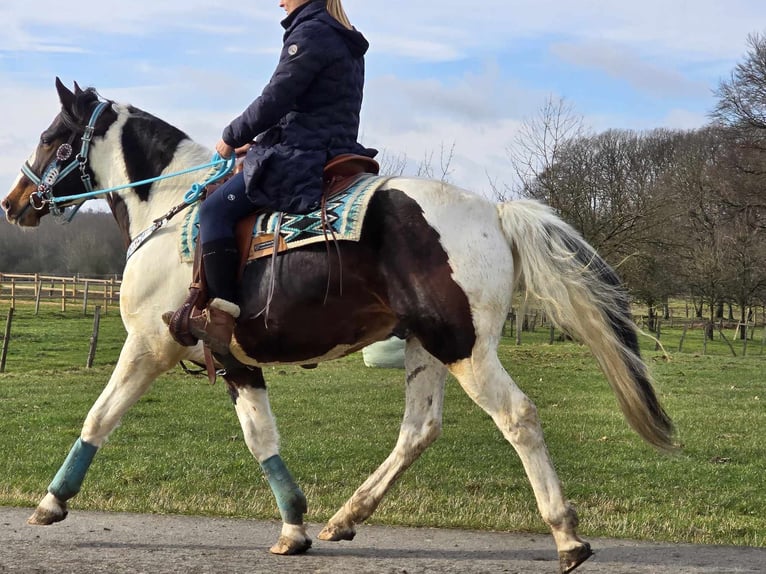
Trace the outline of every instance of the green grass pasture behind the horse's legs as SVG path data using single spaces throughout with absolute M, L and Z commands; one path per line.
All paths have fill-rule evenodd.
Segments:
M 0 327 L 7 307 L 0 304 Z M 0 505 L 35 506 L 79 434 L 116 361 L 124 331 L 101 319 L 95 366 L 84 368 L 92 317 L 16 309 L 0 374 Z M 2 331 L 0 330 L 0 335 Z M 624 422 L 588 351 L 547 344 L 548 331 L 502 342 L 503 364 L 537 404 L 549 451 L 584 536 L 766 546 L 766 354 L 756 334 L 742 357 L 722 341 L 669 356 L 644 341 L 657 390 L 678 427 L 666 455 Z M 697 334 L 700 337 L 701 331 Z M 726 333 L 734 341 L 733 333 Z M 701 347 L 700 347 L 701 349 Z M 315 370 L 265 370 L 282 454 L 326 521 L 382 462 L 403 411 L 403 372 L 361 354 Z M 79 509 L 278 518 L 247 451 L 225 386 L 180 369 L 125 416 L 72 501 Z M 522 467 L 500 432 L 452 379 L 442 437 L 404 474 L 371 522 L 546 532 Z M 316 533 L 315 533 L 316 534 Z

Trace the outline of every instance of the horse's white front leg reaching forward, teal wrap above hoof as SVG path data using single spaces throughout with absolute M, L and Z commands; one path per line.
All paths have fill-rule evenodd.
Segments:
M 80 437 L 29 524 L 48 525 L 66 518 L 67 501 L 80 491 L 96 451 L 157 376 L 178 362 L 179 352 L 172 343 L 160 348 L 157 339 L 128 335 L 109 383 L 88 412 Z

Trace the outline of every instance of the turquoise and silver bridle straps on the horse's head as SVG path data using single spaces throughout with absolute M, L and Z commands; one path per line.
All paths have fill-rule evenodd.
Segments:
M 24 165 L 21 166 L 22 173 L 37 186 L 37 191 L 29 196 L 29 203 L 34 209 L 39 211 L 47 205 L 51 215 L 63 216 L 66 206 L 62 208 L 58 205 L 62 201 L 57 201 L 57 198 L 53 196 L 53 186 L 78 167 L 80 168 L 80 179 L 85 187 L 85 191 L 87 193 L 93 191 L 93 184 L 91 183 L 90 174 L 88 173 L 88 153 L 90 151 L 91 141 L 93 140 L 93 132 L 96 129 L 96 121 L 101 115 L 101 112 L 103 112 L 108 105 L 108 102 L 99 102 L 93 110 L 90 120 L 88 120 L 88 125 L 85 126 L 85 131 L 82 135 L 80 153 L 78 153 L 68 164 L 64 165 L 64 163 L 72 157 L 72 142 L 74 141 L 75 134 L 72 134 L 68 142 L 59 146 L 59 149 L 56 150 L 56 158 L 48 164 L 48 167 L 45 169 L 42 176 L 38 176 L 32 170 L 32 166 L 29 165 L 29 162 L 24 162 Z

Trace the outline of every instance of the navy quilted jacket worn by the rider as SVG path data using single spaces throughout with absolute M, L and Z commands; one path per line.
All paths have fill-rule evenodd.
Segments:
M 369 44 L 327 13 L 304 4 L 282 21 L 279 64 L 263 93 L 223 131 L 245 158 L 247 194 L 258 206 L 290 213 L 315 209 L 322 168 L 343 153 L 374 156 L 357 142 Z

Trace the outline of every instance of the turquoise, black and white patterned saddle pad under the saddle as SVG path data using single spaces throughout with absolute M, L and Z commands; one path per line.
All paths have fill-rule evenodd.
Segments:
M 318 209 L 305 215 L 282 214 L 279 228 L 280 245 L 286 249 L 300 247 L 319 241 L 326 241 L 333 236 L 339 241 L 359 241 L 362 235 L 362 223 L 370 199 L 385 181 L 386 176 L 363 176 L 348 189 L 333 195 L 327 200 L 325 212 L 327 224 L 323 228 L 322 210 Z M 250 257 L 263 257 L 271 253 L 274 232 L 276 231 L 279 212 L 267 211 L 260 214 L 253 228 L 253 246 Z M 332 229 L 332 231 L 330 231 Z M 194 247 L 199 233 L 199 204 L 189 209 L 181 228 L 180 255 L 183 261 L 192 261 Z M 263 248 L 258 246 L 262 245 Z M 282 251 L 282 248 L 280 248 Z

